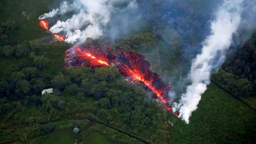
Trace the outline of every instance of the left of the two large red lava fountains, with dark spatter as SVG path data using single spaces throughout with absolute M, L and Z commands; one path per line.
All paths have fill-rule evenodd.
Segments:
M 68 66 L 77 68 L 80 66 L 88 66 L 90 68 L 110 66 L 109 57 L 110 53 L 105 53 L 99 48 L 82 47 L 72 48 L 66 51 L 65 61 L 68 62 Z M 68 66 L 65 66 L 66 68 Z

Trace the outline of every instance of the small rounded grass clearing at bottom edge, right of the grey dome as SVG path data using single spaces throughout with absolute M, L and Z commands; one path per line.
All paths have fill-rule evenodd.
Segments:
M 114 144 L 104 134 L 94 132 L 83 139 L 83 144 Z

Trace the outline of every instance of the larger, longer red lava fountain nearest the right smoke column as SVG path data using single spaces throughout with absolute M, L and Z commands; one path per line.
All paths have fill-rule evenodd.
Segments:
M 113 57 L 113 62 L 116 63 L 122 76 L 144 84 L 144 88 L 152 91 L 156 98 L 166 106 L 166 110 L 171 111 L 169 110 L 170 99 L 168 96 L 171 88 L 159 78 L 159 74 L 149 70 L 151 68 L 150 63 L 143 55 L 136 54 L 133 51 L 119 52 Z

